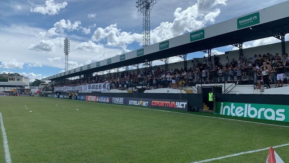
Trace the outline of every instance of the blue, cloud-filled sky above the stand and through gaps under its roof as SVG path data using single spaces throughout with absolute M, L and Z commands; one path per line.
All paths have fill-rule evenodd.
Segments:
M 150 16 L 154 44 L 285 0 L 158 0 Z M 135 0 L 1 0 L 0 73 L 17 72 L 30 81 L 64 69 L 63 41 L 70 38 L 69 69 L 142 47 L 142 14 Z M 286 35 L 288 40 L 288 35 Z M 280 42 L 273 37 L 243 48 Z M 224 54 L 236 47 L 212 50 Z M 191 53 L 187 59 L 203 57 Z M 169 63 L 180 61 L 169 58 Z M 163 64 L 154 61 L 153 65 Z

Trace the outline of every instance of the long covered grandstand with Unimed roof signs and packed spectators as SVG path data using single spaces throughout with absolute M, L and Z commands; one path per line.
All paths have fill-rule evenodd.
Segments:
M 199 111 L 213 110 L 207 107 L 209 91 L 214 94 L 288 94 L 284 73 L 289 60 L 286 53 L 289 43 L 285 42 L 285 34 L 289 33 L 289 14 L 284 7 L 287 5 L 289 1 L 49 76 L 42 80 L 50 80 L 52 84 L 43 90 L 58 94 L 105 93 L 112 97 L 120 95 L 117 93 L 187 94 L 185 96 L 201 96 L 201 104 L 189 100 L 188 106 L 198 107 Z M 272 11 L 275 14 L 272 15 Z M 243 49 L 244 42 L 272 36 L 280 43 Z M 212 56 L 213 48 L 228 45 L 238 50 Z M 187 54 L 196 51 L 206 53 L 207 57 L 187 60 Z M 183 61 L 169 64 L 168 58 L 172 56 Z M 154 60 L 164 61 L 164 64 L 153 66 Z M 149 66 L 140 68 L 145 62 Z M 281 80 L 277 78 L 281 75 L 278 62 L 283 65 Z M 182 99 L 181 96 L 178 99 Z

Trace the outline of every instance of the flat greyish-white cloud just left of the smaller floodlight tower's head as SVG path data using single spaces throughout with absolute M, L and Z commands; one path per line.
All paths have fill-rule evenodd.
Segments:
M 57 37 L 52 40 L 41 40 L 37 44 L 31 44 L 27 47 L 29 50 L 33 51 L 45 51 L 45 52 L 55 52 L 56 47 L 63 46 L 63 37 Z

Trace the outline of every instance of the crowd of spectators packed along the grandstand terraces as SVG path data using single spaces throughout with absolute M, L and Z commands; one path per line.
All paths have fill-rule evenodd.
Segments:
M 238 59 L 230 59 L 226 56 L 225 63 L 221 63 L 219 57 L 214 55 L 213 62 L 206 57 L 203 60 L 192 60 L 189 69 L 160 69 L 157 66 L 143 72 L 133 71 L 128 73 L 112 73 L 95 75 L 88 78 L 66 80 L 56 82 L 43 90 L 51 90 L 52 87 L 78 86 L 92 83 L 110 83 L 110 89 L 127 90 L 129 87 L 142 86 L 146 89 L 173 88 L 181 89 L 182 86 L 195 84 L 236 83 L 237 81 L 249 81 L 261 89 L 261 84 L 270 84 L 275 87 L 283 87 L 284 79 L 289 79 L 288 54 L 282 57 L 278 53 L 273 56 L 270 53 L 255 54 L 247 59 L 243 54 Z M 288 70 L 287 70 L 288 69 Z M 286 75 L 285 73 L 286 72 Z M 278 86 L 277 86 L 278 84 Z

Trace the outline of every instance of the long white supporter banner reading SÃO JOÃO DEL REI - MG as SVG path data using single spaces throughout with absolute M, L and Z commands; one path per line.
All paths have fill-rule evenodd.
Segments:
M 110 92 L 110 83 L 54 87 L 54 92 Z

